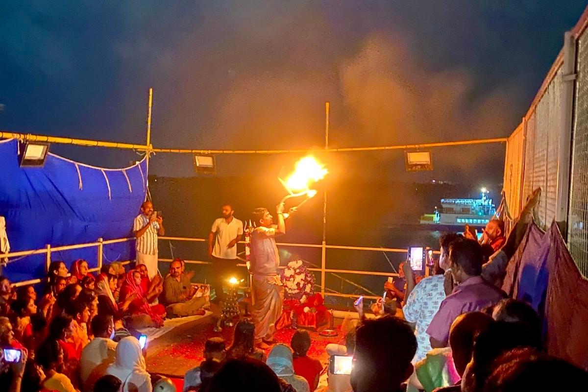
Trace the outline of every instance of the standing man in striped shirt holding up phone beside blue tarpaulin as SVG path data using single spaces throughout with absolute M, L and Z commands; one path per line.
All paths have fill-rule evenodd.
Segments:
M 141 213 L 133 223 L 133 233 L 136 238 L 136 263 L 145 264 L 149 279 L 157 274 L 157 236 L 163 236 L 163 219 L 153 212 L 153 204 L 144 202 L 141 205 Z

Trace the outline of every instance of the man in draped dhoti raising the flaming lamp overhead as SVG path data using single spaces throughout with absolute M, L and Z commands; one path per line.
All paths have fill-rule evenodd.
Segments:
M 284 288 L 278 274 L 280 257 L 275 237 L 286 234 L 291 225 L 291 208 L 284 213 L 284 203 L 276 206 L 277 225 L 273 225 L 273 216 L 265 208 L 256 208 L 253 217 L 259 227 L 251 233 L 251 267 L 253 311 L 255 320 L 255 344 L 260 349 L 268 349 L 274 343 L 276 320 L 282 314 Z

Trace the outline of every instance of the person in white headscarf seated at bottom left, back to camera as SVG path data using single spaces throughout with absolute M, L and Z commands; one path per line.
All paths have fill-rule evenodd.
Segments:
M 122 392 L 153 392 L 151 376 L 147 373 L 141 346 L 134 336 L 119 341 L 116 346 L 116 359 L 106 369 L 106 374 L 112 374 L 122 381 Z

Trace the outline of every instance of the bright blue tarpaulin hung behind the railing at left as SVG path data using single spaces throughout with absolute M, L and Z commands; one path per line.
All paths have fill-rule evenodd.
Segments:
M 0 216 L 6 218 L 11 252 L 132 237 L 145 200 L 144 158 L 125 169 L 102 169 L 49 153 L 44 167 L 19 167 L 18 148 L 18 140 L 0 141 Z M 103 246 L 105 263 L 134 258 L 132 241 Z M 68 268 L 85 259 L 92 268 L 98 266 L 98 249 L 52 252 L 51 259 Z M 45 254 L 11 259 L 2 274 L 13 282 L 41 278 L 45 264 Z

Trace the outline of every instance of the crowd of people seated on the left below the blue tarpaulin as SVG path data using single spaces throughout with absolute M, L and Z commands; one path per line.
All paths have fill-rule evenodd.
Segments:
M 165 292 L 169 279 L 182 293 Z M 42 296 L 33 285 L 15 287 L 0 276 L 1 390 L 92 392 L 117 378 L 115 390 L 151 392 L 138 330 L 161 327 L 166 317 L 202 314 L 206 303 L 179 267 L 149 279 L 141 265 L 126 271 L 112 263 L 94 276 L 85 260 L 69 270 L 56 261 L 39 286 Z M 177 303 L 170 300 L 175 296 Z

